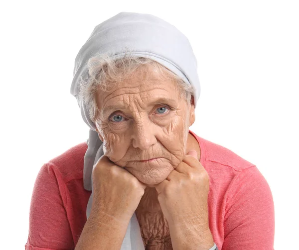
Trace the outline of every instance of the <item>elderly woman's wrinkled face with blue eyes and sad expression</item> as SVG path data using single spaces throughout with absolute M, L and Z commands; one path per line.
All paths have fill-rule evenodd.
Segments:
M 150 186 L 183 160 L 195 114 L 194 105 L 179 97 L 176 83 L 150 68 L 148 74 L 139 69 L 116 90 L 98 90 L 96 127 L 105 156 Z

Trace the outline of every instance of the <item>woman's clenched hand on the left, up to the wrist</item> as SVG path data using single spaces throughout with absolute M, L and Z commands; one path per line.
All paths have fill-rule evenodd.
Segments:
M 108 218 L 127 224 L 145 193 L 146 184 L 106 156 L 98 160 L 92 172 L 91 214 L 107 215 Z

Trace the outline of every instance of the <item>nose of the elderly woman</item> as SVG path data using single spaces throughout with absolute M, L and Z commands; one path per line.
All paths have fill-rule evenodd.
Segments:
M 132 137 L 133 147 L 141 150 L 147 150 L 157 142 L 154 128 L 149 120 L 134 123 Z

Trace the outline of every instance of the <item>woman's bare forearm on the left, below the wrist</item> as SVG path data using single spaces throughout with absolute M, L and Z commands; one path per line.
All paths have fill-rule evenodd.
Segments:
M 129 223 L 129 222 L 128 222 Z M 120 250 L 128 224 L 119 223 L 104 215 L 90 215 L 75 250 Z

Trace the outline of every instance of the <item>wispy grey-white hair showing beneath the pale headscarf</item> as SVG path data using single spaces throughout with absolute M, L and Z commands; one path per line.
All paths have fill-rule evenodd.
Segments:
M 95 124 L 99 121 L 98 113 L 100 112 L 96 97 L 98 89 L 113 91 L 118 87 L 118 83 L 124 81 L 144 65 L 152 66 L 152 70 L 158 73 L 161 79 L 168 79 L 177 83 L 180 98 L 184 96 L 188 104 L 194 104 L 192 98 L 195 91 L 194 86 L 185 83 L 180 77 L 158 62 L 150 58 L 132 56 L 130 52 L 119 59 L 112 59 L 112 56 L 110 54 L 95 54 L 87 62 L 87 77 L 80 80 L 78 95 L 83 98 L 90 120 Z M 147 67 L 143 68 L 145 68 L 143 70 L 147 74 Z

